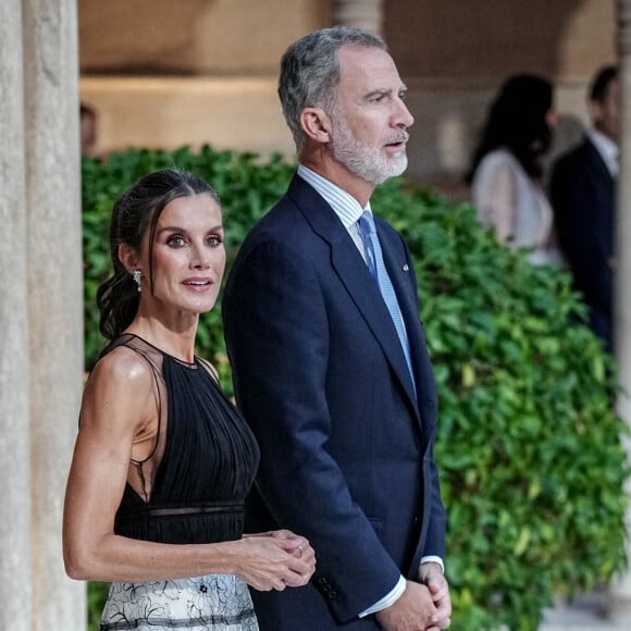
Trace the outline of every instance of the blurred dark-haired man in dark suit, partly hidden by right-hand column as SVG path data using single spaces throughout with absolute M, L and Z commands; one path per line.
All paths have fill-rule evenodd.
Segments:
M 601 70 L 590 89 L 593 128 L 553 169 L 550 199 L 559 245 L 574 287 L 590 310 L 590 324 L 613 349 L 615 181 L 618 174 L 616 66 Z

